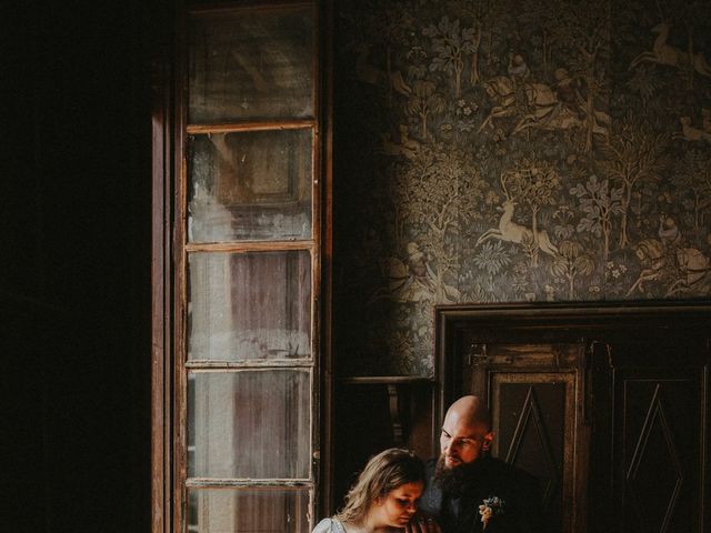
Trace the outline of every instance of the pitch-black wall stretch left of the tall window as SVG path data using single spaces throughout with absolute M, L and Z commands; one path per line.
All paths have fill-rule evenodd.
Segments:
M 150 530 L 149 3 L 3 8 L 6 531 Z

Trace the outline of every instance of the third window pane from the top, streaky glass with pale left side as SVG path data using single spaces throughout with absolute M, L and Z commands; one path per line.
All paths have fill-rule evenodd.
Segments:
M 189 255 L 188 359 L 311 356 L 306 250 Z

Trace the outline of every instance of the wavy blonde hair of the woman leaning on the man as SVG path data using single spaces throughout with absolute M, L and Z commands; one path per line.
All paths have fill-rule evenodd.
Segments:
M 408 483 L 425 483 L 424 463 L 414 452 L 391 447 L 368 461 L 346 495 L 346 505 L 336 517 L 342 522 L 363 519 L 379 497 Z

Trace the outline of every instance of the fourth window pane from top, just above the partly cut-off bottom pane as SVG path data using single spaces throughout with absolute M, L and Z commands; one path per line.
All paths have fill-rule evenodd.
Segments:
M 188 388 L 189 476 L 309 479 L 310 371 L 199 372 Z

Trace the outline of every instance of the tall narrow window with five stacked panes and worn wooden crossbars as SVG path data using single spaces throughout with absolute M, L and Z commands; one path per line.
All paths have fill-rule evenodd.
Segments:
M 318 10 L 263 3 L 200 7 L 182 19 L 172 234 L 176 532 L 313 526 Z

